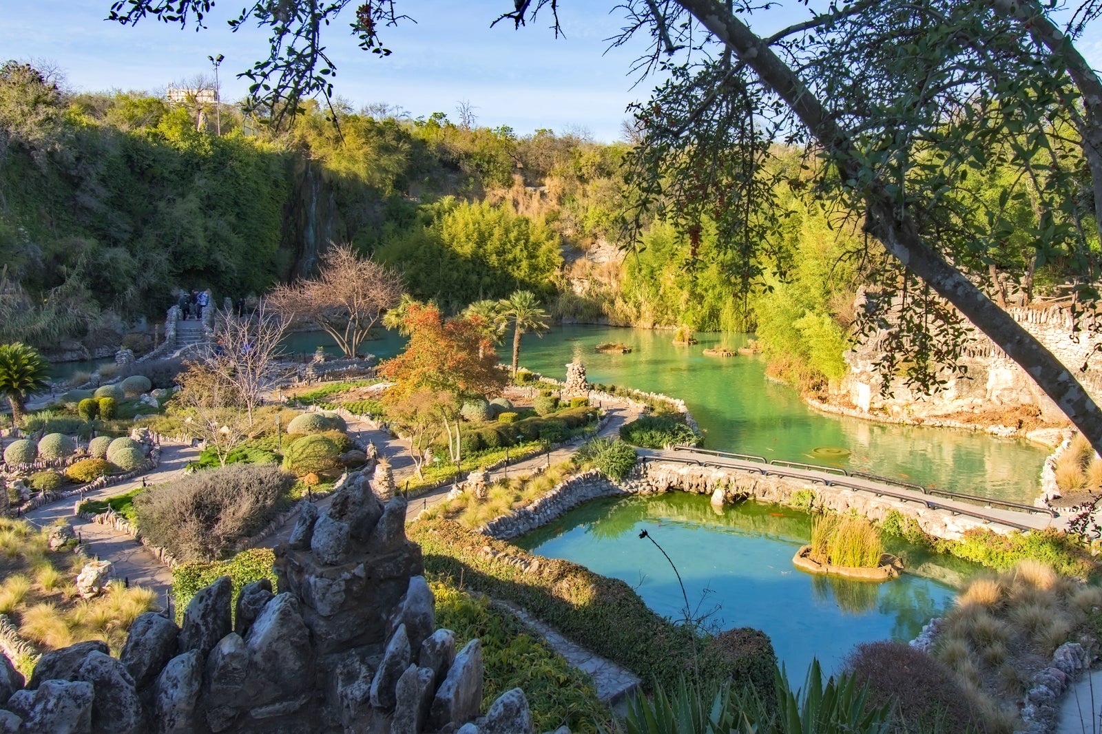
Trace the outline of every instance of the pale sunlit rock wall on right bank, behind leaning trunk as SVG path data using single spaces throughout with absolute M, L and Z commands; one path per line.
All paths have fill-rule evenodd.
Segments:
M 858 300 L 863 299 L 858 295 Z M 1044 344 L 1096 400 L 1102 397 L 1102 365 L 1091 357 L 1102 348 L 1102 335 L 1093 333 L 1090 323 L 1074 331 L 1070 309 L 1007 309 L 1015 321 Z M 1087 316 L 1088 320 L 1093 316 Z M 992 407 L 1031 406 L 1040 410 L 1044 419 L 1066 422 L 1066 417 L 1046 396 L 1025 370 L 1006 356 L 998 346 L 980 331 L 964 348 L 961 365 L 968 367 L 968 377 L 947 375 L 944 390 L 923 396 L 909 388 L 903 378 L 895 378 L 888 395 L 882 395 L 883 378 L 879 365 L 884 360 L 883 333 L 874 334 L 845 353 L 850 373 L 839 392 L 861 413 L 883 413 L 893 418 L 923 418 L 953 412 L 972 412 Z M 1079 368 L 1090 361 L 1087 371 Z M 1015 427 L 1006 427 L 1014 429 Z

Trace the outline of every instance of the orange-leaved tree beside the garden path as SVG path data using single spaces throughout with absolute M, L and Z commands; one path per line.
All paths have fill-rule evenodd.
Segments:
M 460 407 L 475 396 L 500 395 L 505 374 L 497 366 L 479 316 L 445 320 L 435 304 L 411 302 L 402 323 L 410 335 L 409 345 L 379 366 L 379 373 L 395 381 L 388 400 L 397 404 L 421 391 L 451 396 L 450 401 L 433 401 L 431 409 L 440 415 L 449 453 L 458 464 Z

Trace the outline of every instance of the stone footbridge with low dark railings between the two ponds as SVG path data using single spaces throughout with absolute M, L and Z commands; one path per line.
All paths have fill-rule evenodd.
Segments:
M 1067 530 L 1068 516 L 1061 516 L 1048 507 L 1034 507 L 1019 503 L 990 499 L 975 495 L 965 495 L 943 489 L 928 489 L 918 485 L 896 482 L 886 477 L 869 474 L 850 473 L 834 467 L 819 467 L 797 462 L 768 462 L 760 456 L 733 454 L 720 451 L 707 451 L 691 446 L 674 446 L 669 450 L 638 450 L 645 463 L 670 462 L 681 464 L 687 469 L 700 467 L 720 472 L 733 471 L 735 474 L 750 478 L 758 477 L 775 490 L 753 490 L 750 494 L 761 499 L 776 499 L 778 490 L 781 495 L 790 494 L 795 485 L 809 488 L 820 488 L 824 495 L 836 496 L 840 493 L 865 495 L 878 507 L 895 508 L 905 515 L 929 518 L 932 515 L 953 518 L 943 525 L 950 535 L 972 527 L 986 527 L 996 532 L 1011 530 Z M 768 481 L 768 482 L 767 482 Z M 720 479 L 722 482 L 722 479 Z M 788 492 L 780 489 L 787 486 Z M 853 507 L 857 503 L 850 503 Z M 863 512 L 868 515 L 868 512 Z M 875 518 L 874 518 L 875 519 Z M 926 523 L 922 523 L 926 525 Z M 923 528 L 927 529 L 927 528 Z M 929 531 L 929 529 L 927 529 Z M 933 532 L 944 537 L 944 532 Z

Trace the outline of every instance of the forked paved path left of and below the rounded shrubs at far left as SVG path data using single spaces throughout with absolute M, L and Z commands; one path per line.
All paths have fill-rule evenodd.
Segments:
M 183 473 L 188 462 L 198 457 L 199 450 L 192 446 L 162 444 L 161 463 L 143 477 L 149 484 L 162 484 L 176 478 Z M 107 499 L 122 495 L 140 487 L 142 477 L 102 487 L 85 495 L 85 499 Z M 110 561 L 116 579 L 127 579 L 136 586 L 145 586 L 156 592 L 164 604 L 166 594 L 172 589 L 172 571 L 161 563 L 148 548 L 128 535 L 116 531 L 110 526 L 89 522 L 73 514 L 76 499 L 64 499 L 44 505 L 24 515 L 24 519 L 35 526 L 46 527 L 55 520 L 65 519 L 80 536 L 88 554 Z

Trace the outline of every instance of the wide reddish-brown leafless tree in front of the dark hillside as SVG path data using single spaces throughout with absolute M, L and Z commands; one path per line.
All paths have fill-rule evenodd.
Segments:
M 317 278 L 277 285 L 268 304 L 288 319 L 313 322 L 346 356 L 355 357 L 371 327 L 401 295 L 397 271 L 339 245 L 322 256 Z

